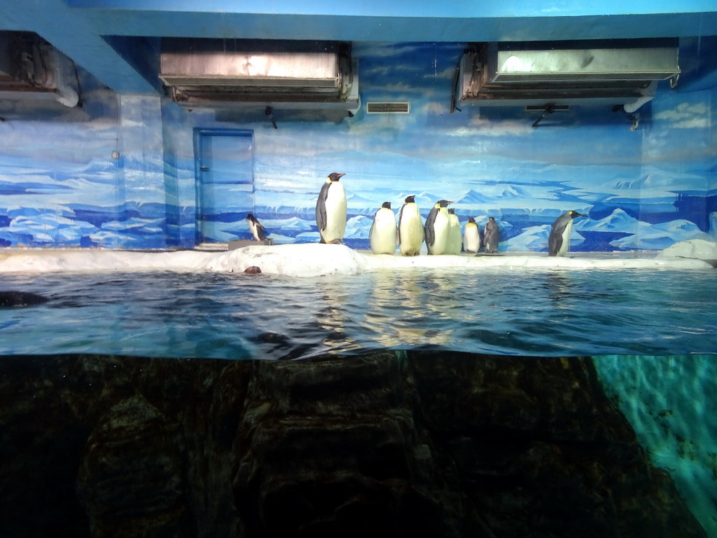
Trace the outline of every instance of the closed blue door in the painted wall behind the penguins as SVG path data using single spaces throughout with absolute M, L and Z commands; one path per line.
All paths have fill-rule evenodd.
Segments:
M 252 131 L 196 129 L 197 242 L 250 239 L 254 208 Z

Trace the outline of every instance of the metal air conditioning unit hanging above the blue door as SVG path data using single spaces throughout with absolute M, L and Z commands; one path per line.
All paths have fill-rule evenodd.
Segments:
M 163 39 L 159 77 L 185 108 L 360 108 L 341 42 Z

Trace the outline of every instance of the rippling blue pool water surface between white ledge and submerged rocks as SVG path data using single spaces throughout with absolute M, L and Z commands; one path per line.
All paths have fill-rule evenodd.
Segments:
M 430 347 L 503 355 L 717 351 L 717 280 L 690 270 L 3 275 L 0 354 L 300 359 Z

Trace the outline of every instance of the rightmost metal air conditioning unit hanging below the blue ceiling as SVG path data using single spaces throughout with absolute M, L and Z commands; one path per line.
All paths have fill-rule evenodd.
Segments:
M 485 43 L 463 55 L 457 91 L 462 105 L 625 105 L 679 74 L 675 39 Z

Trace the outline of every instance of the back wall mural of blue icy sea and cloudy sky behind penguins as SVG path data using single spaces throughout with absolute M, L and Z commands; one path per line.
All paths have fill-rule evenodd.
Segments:
M 317 242 L 314 207 L 332 171 L 348 198 L 345 242 L 368 248 L 374 212 L 409 194 L 465 225 L 495 217 L 499 250 L 547 249 L 568 209 L 572 250 L 657 250 L 717 234 L 716 90 L 660 85 L 635 131 L 624 113 L 579 106 L 537 128 L 518 108 L 450 113 L 464 44 L 354 44 L 361 96 L 409 101 L 409 114 L 181 109 L 115 95 L 81 77 L 83 107 L 0 100 L 0 246 L 196 245 L 194 131 L 252 131 L 254 208 L 275 242 Z M 242 156 L 237 156 L 242 159 Z M 244 180 L 242 180 L 244 181 Z M 237 187 L 239 188 L 239 187 Z M 245 190 L 241 186 L 240 190 Z M 228 189 L 227 192 L 231 192 Z M 219 215 L 214 241 L 249 239 L 244 214 Z

